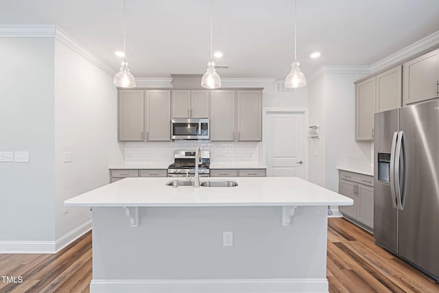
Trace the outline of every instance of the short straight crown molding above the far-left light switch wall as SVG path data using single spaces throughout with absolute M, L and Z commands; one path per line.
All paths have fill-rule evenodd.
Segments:
M 1 38 L 54 37 L 56 25 L 0 25 Z

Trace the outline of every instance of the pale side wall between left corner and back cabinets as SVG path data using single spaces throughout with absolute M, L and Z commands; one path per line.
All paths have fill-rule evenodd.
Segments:
M 117 89 L 112 76 L 55 40 L 55 239 L 91 220 L 90 209 L 63 202 L 108 184 L 108 163 L 123 162 L 117 143 Z M 71 152 L 71 163 L 64 163 Z

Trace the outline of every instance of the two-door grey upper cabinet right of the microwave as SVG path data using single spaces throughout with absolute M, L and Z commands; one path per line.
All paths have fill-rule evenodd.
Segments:
M 211 141 L 261 141 L 262 91 L 211 92 Z

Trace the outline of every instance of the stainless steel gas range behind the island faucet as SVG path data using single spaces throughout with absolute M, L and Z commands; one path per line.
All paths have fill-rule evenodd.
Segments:
M 198 162 L 198 174 L 200 177 L 209 177 L 209 165 L 211 164 L 211 152 L 201 151 L 201 161 Z M 187 177 L 195 175 L 195 151 L 176 150 L 174 163 L 167 167 L 168 177 Z

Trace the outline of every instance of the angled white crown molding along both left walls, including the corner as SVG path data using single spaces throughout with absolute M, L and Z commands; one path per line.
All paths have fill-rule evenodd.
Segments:
M 97 57 L 78 40 L 64 32 L 58 25 L 0 25 L 0 37 L 3 38 L 56 38 L 76 53 L 104 70 L 109 75 L 115 75 L 117 70 Z

